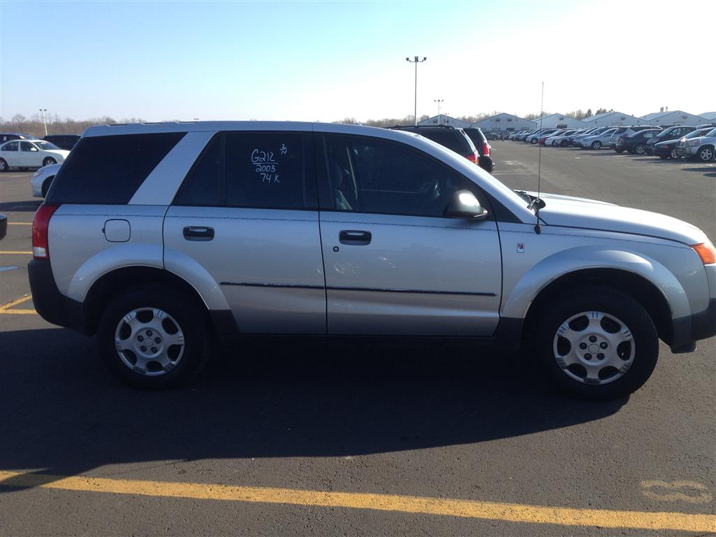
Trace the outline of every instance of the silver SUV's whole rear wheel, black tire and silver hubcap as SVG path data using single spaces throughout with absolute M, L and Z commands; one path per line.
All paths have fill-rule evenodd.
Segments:
M 203 304 L 178 289 L 145 284 L 110 302 L 97 340 L 112 372 L 153 389 L 193 379 L 211 357 L 211 333 Z

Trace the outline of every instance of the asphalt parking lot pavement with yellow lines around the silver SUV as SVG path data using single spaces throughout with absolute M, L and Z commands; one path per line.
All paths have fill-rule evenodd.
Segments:
M 716 239 L 716 165 L 490 142 L 512 188 Z M 0 533 L 644 535 L 716 531 L 716 346 L 661 344 L 628 400 L 550 392 L 469 342 L 257 339 L 131 390 L 29 296 L 32 173 L 0 175 Z

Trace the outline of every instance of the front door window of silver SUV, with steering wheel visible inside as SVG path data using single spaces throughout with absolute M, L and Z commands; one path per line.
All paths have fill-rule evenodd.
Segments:
M 379 138 L 326 135 L 326 167 L 336 211 L 444 216 L 470 180 L 420 151 Z

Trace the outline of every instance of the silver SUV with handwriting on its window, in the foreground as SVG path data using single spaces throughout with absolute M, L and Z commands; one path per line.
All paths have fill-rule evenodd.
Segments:
M 608 399 L 646 382 L 659 339 L 691 352 L 716 332 L 699 229 L 515 192 L 396 130 L 91 127 L 33 226 L 37 311 L 97 334 L 139 387 L 190 380 L 243 334 L 469 337 Z

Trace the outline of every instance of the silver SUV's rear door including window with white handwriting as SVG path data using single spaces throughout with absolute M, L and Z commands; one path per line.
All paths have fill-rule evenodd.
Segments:
M 165 217 L 167 269 L 198 263 L 243 333 L 326 333 L 312 155 L 303 132 L 219 133 Z

